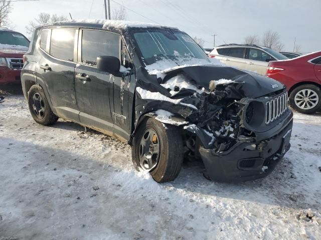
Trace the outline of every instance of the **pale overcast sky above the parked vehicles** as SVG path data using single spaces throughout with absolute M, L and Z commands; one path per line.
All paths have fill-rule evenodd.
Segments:
M 104 0 L 39 0 L 12 2 L 10 14 L 14 29 L 26 33 L 25 26 L 40 12 L 57 13 L 74 19 L 103 19 Z M 321 0 L 110 0 L 113 8 L 125 5 L 128 20 L 177 26 L 202 37 L 205 47 L 243 43 L 250 34 L 262 36 L 277 31 L 285 50 L 292 51 L 294 37 L 301 51 L 321 49 Z M 90 11 L 91 9 L 91 11 Z M 147 19 L 149 18 L 149 19 Z

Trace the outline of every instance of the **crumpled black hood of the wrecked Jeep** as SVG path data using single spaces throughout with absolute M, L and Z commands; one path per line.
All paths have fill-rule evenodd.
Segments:
M 244 71 L 229 66 L 197 65 L 186 66 L 166 71 L 167 76 L 183 72 L 196 81 L 199 86 L 209 90 L 211 80 L 231 79 L 235 88 L 244 97 L 256 98 L 271 92 L 281 90 L 285 86 L 272 78 L 251 71 Z

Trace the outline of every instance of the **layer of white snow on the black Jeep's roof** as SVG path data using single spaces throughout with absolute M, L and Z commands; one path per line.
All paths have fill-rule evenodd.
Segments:
M 156 23 L 146 23 L 140 21 L 125 21 L 125 20 L 96 20 L 96 19 L 83 19 L 83 20 L 67 20 L 67 21 L 57 21 L 54 24 L 61 24 L 61 23 L 95 23 L 95 24 L 103 24 L 104 29 L 108 28 L 120 28 L 125 29 L 128 27 L 163 27 L 163 28 L 172 28 L 178 30 L 177 27 L 171 27 Z

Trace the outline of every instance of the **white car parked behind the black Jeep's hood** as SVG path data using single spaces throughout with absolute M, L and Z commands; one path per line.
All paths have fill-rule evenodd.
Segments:
M 254 71 L 264 75 L 269 61 L 288 59 L 270 47 L 254 44 L 225 44 L 215 47 L 209 57 L 215 57 L 228 66 Z

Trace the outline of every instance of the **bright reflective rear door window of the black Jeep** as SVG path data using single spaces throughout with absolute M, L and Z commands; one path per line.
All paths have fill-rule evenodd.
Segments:
M 74 60 L 74 43 L 76 29 L 52 29 L 50 54 L 59 59 Z

